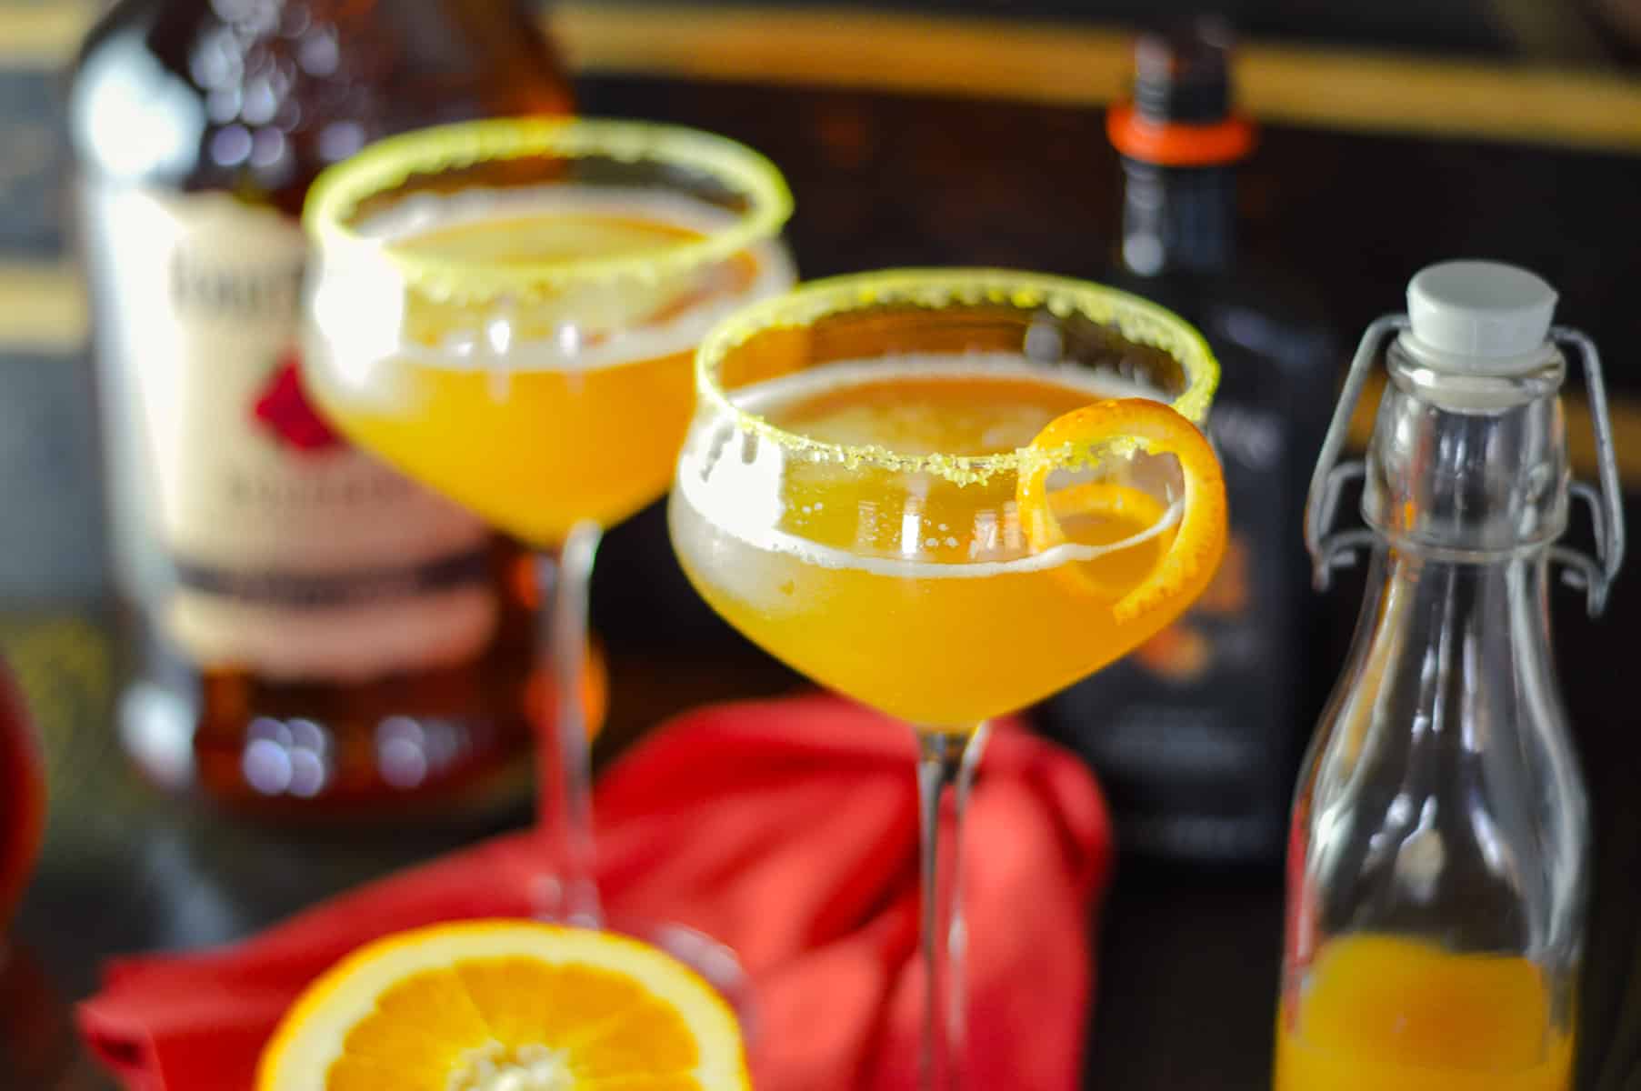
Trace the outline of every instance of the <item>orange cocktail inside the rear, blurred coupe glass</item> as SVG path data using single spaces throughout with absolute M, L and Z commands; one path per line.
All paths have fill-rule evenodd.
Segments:
M 734 218 L 678 194 L 576 185 L 412 212 L 382 217 L 374 231 L 405 254 L 497 267 L 676 246 Z M 409 294 L 397 345 L 350 359 L 322 341 L 307 374 L 356 443 L 492 525 L 550 545 L 578 522 L 610 527 L 666 491 L 694 405 L 696 343 L 791 281 L 770 241 L 673 284 L 622 285 L 591 313 L 571 290 L 499 325 L 492 300 Z

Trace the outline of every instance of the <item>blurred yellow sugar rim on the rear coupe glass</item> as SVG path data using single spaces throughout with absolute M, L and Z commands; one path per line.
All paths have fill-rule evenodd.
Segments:
M 684 167 L 745 197 L 747 210 L 720 230 L 688 243 L 619 258 L 507 266 L 407 254 L 350 225 L 364 200 L 392 192 L 412 177 L 533 156 Z M 752 148 L 724 136 L 650 121 L 496 118 L 389 136 L 328 167 L 309 190 L 302 225 L 320 251 L 369 248 L 381 253 L 417 290 L 461 304 L 497 295 L 528 299 L 584 284 L 656 282 L 684 276 L 773 238 L 791 215 L 793 195 L 779 169 Z

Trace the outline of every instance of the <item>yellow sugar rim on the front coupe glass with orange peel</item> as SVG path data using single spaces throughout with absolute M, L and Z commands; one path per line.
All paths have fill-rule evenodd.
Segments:
M 1185 372 L 1185 390 L 1168 405 L 1200 425 L 1219 386 L 1219 363 L 1196 328 L 1150 300 L 1129 292 L 1035 272 L 1009 269 L 888 269 L 812 281 L 786 295 L 747 307 L 719 323 L 696 349 L 696 394 L 742 431 L 779 443 L 814 461 L 878 466 L 894 472 L 930 472 L 955 484 L 988 481 L 1049 459 L 1055 466 L 1086 463 L 1088 451 L 1037 446 L 999 454 L 903 454 L 876 445 L 825 443 L 786 431 L 730 400 L 720 381 L 724 361 L 760 333 L 801 330 L 822 318 L 899 305 L 929 310 L 1003 305 L 1021 312 L 1047 310 L 1058 318 L 1081 315 L 1134 345 L 1160 349 Z

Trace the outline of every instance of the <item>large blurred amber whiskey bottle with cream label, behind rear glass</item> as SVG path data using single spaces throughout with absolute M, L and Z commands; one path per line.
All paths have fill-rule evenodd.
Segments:
M 565 113 L 522 0 L 126 0 L 69 100 L 128 658 L 166 786 L 286 817 L 528 789 L 519 551 L 351 450 L 295 354 L 313 177 L 394 131 Z

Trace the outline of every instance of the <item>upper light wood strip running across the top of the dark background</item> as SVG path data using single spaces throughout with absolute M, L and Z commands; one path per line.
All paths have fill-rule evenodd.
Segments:
M 87 0 L 0 3 L 0 64 L 64 62 Z M 550 13 L 574 71 L 1101 105 L 1127 31 L 863 8 L 568 0 Z M 1641 151 L 1641 79 L 1352 49 L 1244 43 L 1244 105 L 1316 128 Z

